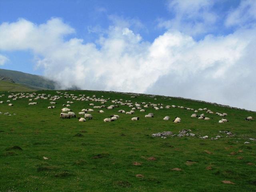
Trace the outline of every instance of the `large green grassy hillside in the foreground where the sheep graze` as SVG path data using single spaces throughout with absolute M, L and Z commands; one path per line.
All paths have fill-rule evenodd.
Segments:
M 62 91 L 64 93 L 65 91 Z M 56 100 L 56 108 L 48 109 L 50 100 L 35 100 L 37 105 L 28 105 L 29 98 L 11 100 L 8 106 L 7 92 L 0 98 L 0 191 L 40 192 L 255 192 L 256 191 L 256 121 L 245 121 L 255 112 L 235 110 L 202 102 L 147 95 L 131 98 L 129 94 L 96 91 L 67 91 L 68 94 L 85 94 L 97 98 L 123 99 L 135 102 L 162 103 L 189 108 L 208 108 L 214 114 L 206 114 L 210 120 L 192 118 L 191 110 L 170 108 L 135 114 L 121 114 L 118 110 L 130 111 L 128 106 L 114 109 L 103 108 L 90 112 L 92 120 L 78 122 L 77 118 L 60 119 L 62 104 L 74 101 L 69 107 L 78 115 L 88 104 L 102 105 L 94 101 L 76 101 L 63 97 Z M 54 95 L 56 91 L 37 91 L 37 94 Z M 63 95 L 62 95 L 63 96 Z M 156 99 L 156 100 L 155 100 Z M 115 104 L 116 105 L 116 104 Z M 142 105 L 143 106 L 143 105 Z M 90 108 L 93 108 L 90 106 Z M 4 115 L 5 112 L 12 114 Z M 145 114 L 154 113 L 154 118 Z M 215 112 L 227 113 L 229 122 L 219 124 L 222 117 Z M 202 113 L 202 112 L 201 112 Z M 198 113 L 198 114 L 201 114 Z M 16 115 L 14 115 L 16 114 Z M 103 122 L 112 114 L 120 115 L 114 122 Z M 131 118 L 139 116 L 140 120 Z M 170 116 L 170 121 L 164 121 Z M 181 123 L 174 124 L 178 116 Z M 152 137 L 157 132 L 172 131 L 178 134 L 190 129 L 195 136 L 170 136 L 166 139 Z M 220 132 L 222 131 L 222 132 Z M 224 131 L 231 131 L 229 136 Z M 208 136 L 202 139 L 200 136 Z M 217 135 L 218 140 L 211 140 Z M 244 144 L 244 142 L 250 144 Z M 44 160 L 43 157 L 47 157 Z M 179 168 L 173 170 L 174 168 Z M 234 184 L 224 184 L 228 180 Z

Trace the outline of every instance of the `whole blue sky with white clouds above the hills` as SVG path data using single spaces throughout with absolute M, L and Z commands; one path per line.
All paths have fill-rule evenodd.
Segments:
M 0 0 L 0 68 L 58 89 L 256 111 L 255 50 L 256 0 Z

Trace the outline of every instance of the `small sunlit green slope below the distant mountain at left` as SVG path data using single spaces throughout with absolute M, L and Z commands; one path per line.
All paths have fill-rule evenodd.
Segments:
M 28 86 L 7 82 L 7 81 L 0 81 L 0 91 L 11 91 L 11 92 L 23 92 L 23 91 L 34 91 L 35 89 L 29 88 Z

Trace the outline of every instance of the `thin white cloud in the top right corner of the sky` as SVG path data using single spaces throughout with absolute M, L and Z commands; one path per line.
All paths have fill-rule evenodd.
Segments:
M 226 26 L 250 26 L 256 22 L 256 1 L 242 0 L 239 6 L 231 10 L 226 18 Z

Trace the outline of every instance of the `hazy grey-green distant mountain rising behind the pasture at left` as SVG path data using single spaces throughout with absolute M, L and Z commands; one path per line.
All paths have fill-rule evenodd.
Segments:
M 54 81 L 47 80 L 43 76 L 32 75 L 20 71 L 0 69 L 0 80 L 15 82 L 32 90 L 54 90 Z

